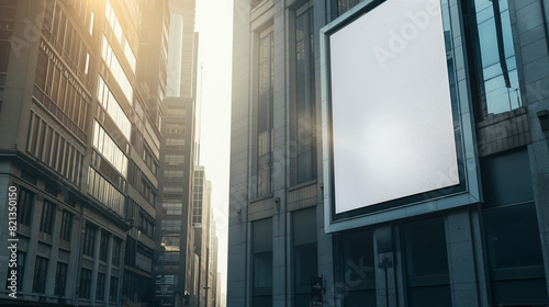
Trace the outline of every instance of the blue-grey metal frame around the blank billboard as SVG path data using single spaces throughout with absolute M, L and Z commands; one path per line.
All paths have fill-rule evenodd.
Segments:
M 474 135 L 474 120 L 466 52 L 462 47 L 463 35 L 459 5 L 452 5 L 450 15 L 459 16 L 451 22 L 450 41 L 453 59 L 456 94 L 451 96 L 452 117 L 459 123 L 456 130 L 456 147 L 458 156 L 458 173 L 460 184 L 436 191 L 418 193 L 411 196 L 391 200 L 380 204 L 336 214 L 334 189 L 334 148 L 332 139 L 332 82 L 329 61 L 329 37 L 338 30 L 368 14 L 379 4 L 395 0 L 363 1 L 341 14 L 321 29 L 321 95 L 322 95 L 322 144 L 323 144 L 323 196 L 325 232 L 374 225 L 379 223 L 439 212 L 453 207 L 480 203 L 482 192 L 480 186 L 479 155 Z M 442 7 L 441 7 L 442 9 Z M 451 11 L 456 10 L 456 12 Z M 457 25 L 457 26 L 456 26 Z M 445 37 L 448 39 L 448 37 Z M 448 84 L 450 87 L 450 84 Z M 457 111 L 457 112 L 456 112 Z

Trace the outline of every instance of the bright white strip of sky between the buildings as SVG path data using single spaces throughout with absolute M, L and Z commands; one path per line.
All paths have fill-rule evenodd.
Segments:
M 222 292 L 226 293 L 233 0 L 198 0 L 195 29 L 200 33 L 197 77 L 197 103 L 202 103 L 200 162 L 212 181 L 212 206 L 220 239 L 219 270 Z

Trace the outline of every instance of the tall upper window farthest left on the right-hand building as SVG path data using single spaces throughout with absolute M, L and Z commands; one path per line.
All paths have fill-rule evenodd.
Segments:
M 274 41 L 272 27 L 259 33 L 257 98 L 257 196 L 272 192 L 272 103 L 274 83 Z

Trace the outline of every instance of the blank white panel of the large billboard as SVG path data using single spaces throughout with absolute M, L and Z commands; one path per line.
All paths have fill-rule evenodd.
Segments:
M 438 0 L 388 0 L 329 36 L 335 213 L 460 183 Z

